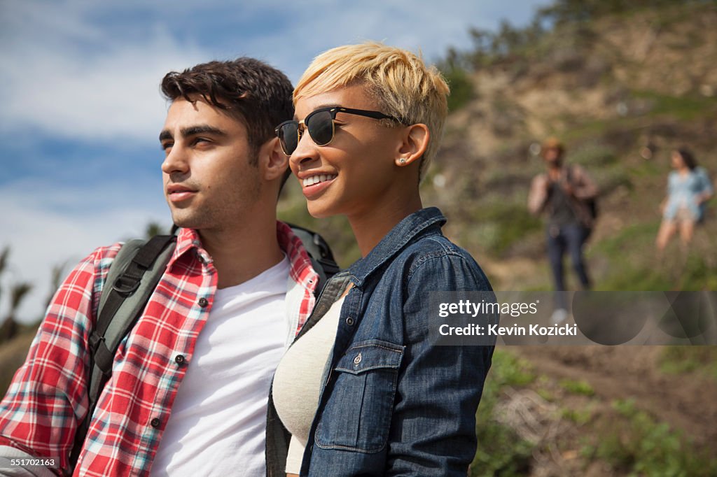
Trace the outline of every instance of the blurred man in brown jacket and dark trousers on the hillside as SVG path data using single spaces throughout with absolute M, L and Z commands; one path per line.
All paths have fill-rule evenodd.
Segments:
M 593 218 L 586 201 L 597 196 L 597 187 L 578 165 L 564 165 L 565 147 L 556 138 L 547 139 L 541 155 L 547 173 L 536 175 L 528 195 L 532 213 L 548 215 L 548 258 L 556 291 L 565 290 L 563 256 L 567 251 L 583 289 L 590 288 L 587 265 L 582 247 L 587 239 Z M 562 294 L 557 296 L 553 321 L 563 322 L 568 315 Z

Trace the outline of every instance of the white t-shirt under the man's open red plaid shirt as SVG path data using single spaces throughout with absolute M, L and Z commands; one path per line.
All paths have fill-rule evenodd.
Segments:
M 217 290 L 179 387 L 152 476 L 264 476 L 272 375 L 285 350 L 284 257 Z

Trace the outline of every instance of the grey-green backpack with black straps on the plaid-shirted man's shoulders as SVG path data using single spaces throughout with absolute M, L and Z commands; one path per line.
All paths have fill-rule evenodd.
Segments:
M 331 248 L 318 233 L 288 225 L 301 239 L 308 251 L 311 265 L 319 276 L 314 291 L 318 297 L 328 279 L 339 271 Z M 148 241 L 130 240 L 122 246 L 110 265 L 100 295 L 97 322 L 90 333 L 91 374 L 87 385 L 89 406 L 85 419 L 75 433 L 75 443 L 70 453 L 72 468 L 80 458 L 80 450 L 85 443 L 92 414 L 95 413 L 102 390 L 112 375 L 115 352 L 141 316 L 149 297 L 164 274 L 175 246 L 176 235 L 153 236 Z

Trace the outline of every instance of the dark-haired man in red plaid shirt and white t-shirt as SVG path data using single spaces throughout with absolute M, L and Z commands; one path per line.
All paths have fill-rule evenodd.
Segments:
M 292 87 L 249 58 L 170 72 L 161 87 L 164 193 L 181 228 L 114 357 L 75 474 L 264 475 L 270 382 L 318 281 L 276 220 L 288 158 L 273 131 L 293 117 Z M 0 456 L 69 468 L 88 407 L 88 335 L 119 249 L 92 252 L 57 291 L 0 404 Z

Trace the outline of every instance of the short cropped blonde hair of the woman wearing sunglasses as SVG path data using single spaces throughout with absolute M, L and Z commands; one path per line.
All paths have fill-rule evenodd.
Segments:
M 412 52 L 377 42 L 336 47 L 311 62 L 296 85 L 294 104 L 302 97 L 357 84 L 368 87 L 381 112 L 404 124 L 427 125 L 430 140 L 419 166 L 423 177 L 436 155 L 448 115 L 450 90 L 440 72 Z

